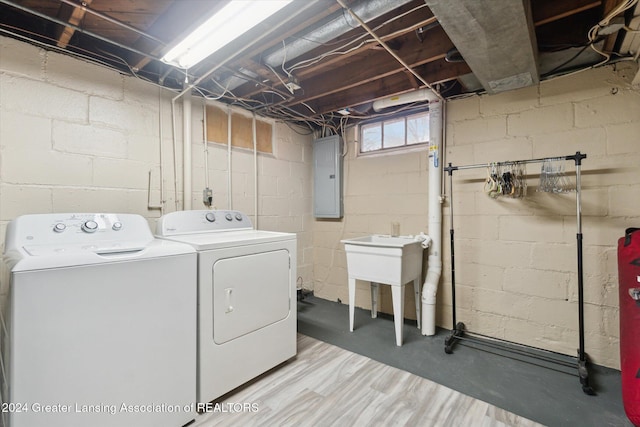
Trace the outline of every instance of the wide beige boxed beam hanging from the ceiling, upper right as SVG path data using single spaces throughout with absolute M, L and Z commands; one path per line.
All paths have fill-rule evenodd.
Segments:
M 535 85 L 537 43 L 528 0 L 425 0 L 482 87 L 498 93 Z

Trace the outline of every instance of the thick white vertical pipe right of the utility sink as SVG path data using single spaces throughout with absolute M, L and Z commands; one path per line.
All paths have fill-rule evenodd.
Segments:
M 442 128 L 444 103 L 429 103 L 429 246 L 427 277 L 422 287 L 422 335 L 436 333 L 436 295 L 442 274 Z

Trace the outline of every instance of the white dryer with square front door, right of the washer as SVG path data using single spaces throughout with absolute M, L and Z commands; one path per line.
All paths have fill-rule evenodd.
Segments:
M 296 235 L 238 211 L 164 215 L 156 235 L 198 252 L 198 392 L 210 402 L 296 354 Z

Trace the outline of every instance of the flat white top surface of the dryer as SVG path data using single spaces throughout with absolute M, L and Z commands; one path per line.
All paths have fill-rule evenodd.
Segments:
M 238 230 L 217 233 L 184 234 L 162 237 L 175 242 L 186 243 L 198 251 L 222 249 L 236 246 L 254 245 L 258 243 L 281 242 L 295 240 L 293 233 L 280 233 L 263 230 Z

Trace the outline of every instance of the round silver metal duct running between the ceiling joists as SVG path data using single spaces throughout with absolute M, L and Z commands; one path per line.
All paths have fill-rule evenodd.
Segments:
M 378 18 L 385 13 L 389 13 L 398 7 L 411 3 L 412 0 L 369 0 L 361 1 L 351 9 L 363 21 L 368 22 Z M 314 29 L 304 33 L 296 34 L 290 43 L 285 47 L 267 54 L 264 63 L 276 67 L 282 65 L 284 61 L 304 55 L 320 44 L 326 43 L 345 34 L 348 31 L 358 28 L 360 24 L 349 13 L 340 10 L 320 21 Z

